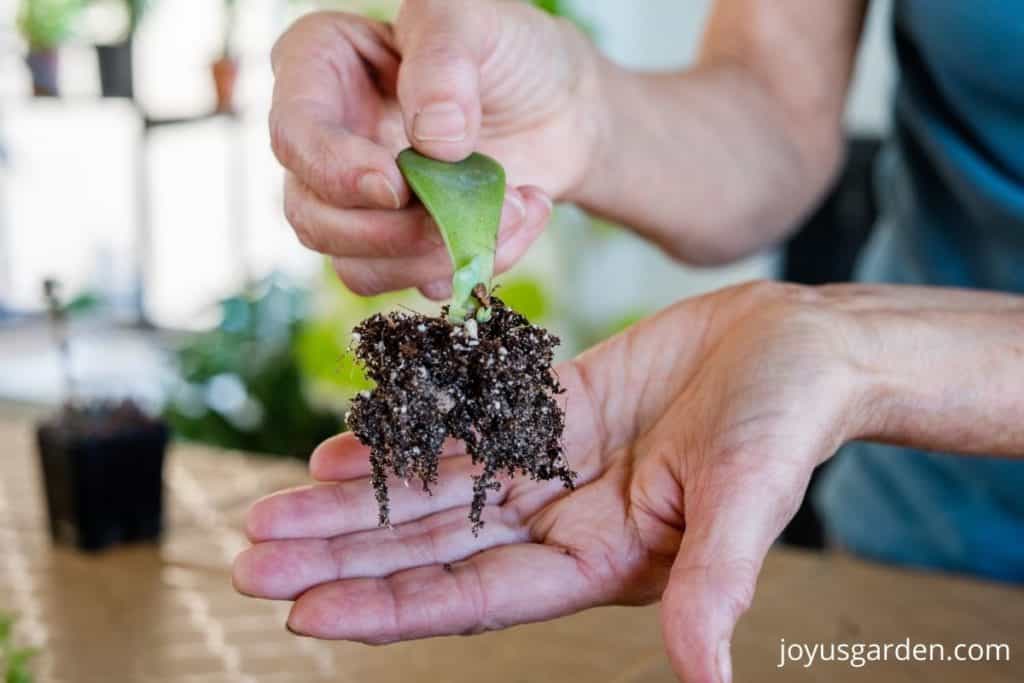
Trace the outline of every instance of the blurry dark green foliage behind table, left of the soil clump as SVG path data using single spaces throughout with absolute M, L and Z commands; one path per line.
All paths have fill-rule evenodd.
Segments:
M 314 405 L 295 348 L 308 293 L 271 278 L 221 303 L 222 319 L 177 351 L 165 417 L 184 438 L 304 458 L 341 420 Z

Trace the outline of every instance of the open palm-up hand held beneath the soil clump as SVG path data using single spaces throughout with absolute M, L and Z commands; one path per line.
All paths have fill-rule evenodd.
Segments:
M 392 488 L 396 526 L 381 529 L 369 453 L 335 437 L 310 463 L 326 483 L 253 507 L 236 586 L 295 600 L 298 633 L 369 643 L 660 597 L 676 671 L 728 681 L 732 630 L 769 546 L 814 466 L 858 428 L 853 319 L 815 290 L 745 286 L 562 366 L 579 486 L 505 481 L 478 538 L 458 447 L 432 497 Z

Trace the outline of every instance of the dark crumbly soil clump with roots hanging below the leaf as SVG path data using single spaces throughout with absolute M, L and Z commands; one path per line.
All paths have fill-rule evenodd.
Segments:
M 561 445 L 564 415 L 555 400 L 562 388 L 551 368 L 559 340 L 500 299 L 489 303 L 486 323 L 392 312 L 355 329 L 354 353 L 377 386 L 355 397 L 347 423 L 370 447 L 382 526 L 390 524 L 388 474 L 417 477 L 429 493 L 450 436 L 482 466 L 473 477 L 474 533 L 502 473 L 558 478 L 572 487 L 575 473 Z

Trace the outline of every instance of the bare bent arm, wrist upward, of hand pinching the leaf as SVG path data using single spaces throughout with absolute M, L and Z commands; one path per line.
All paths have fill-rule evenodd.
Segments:
M 686 72 L 601 60 L 601 132 L 570 199 L 687 261 L 729 261 L 780 239 L 838 168 L 863 11 L 800 4 L 720 1 Z M 822 10 L 819 27 L 804 26 Z

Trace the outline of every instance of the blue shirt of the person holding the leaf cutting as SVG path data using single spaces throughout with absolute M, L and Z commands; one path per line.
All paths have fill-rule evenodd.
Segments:
M 894 38 L 861 279 L 1024 293 L 1024 1 L 896 0 Z M 854 443 L 817 503 L 853 552 L 1024 581 L 1024 460 Z

